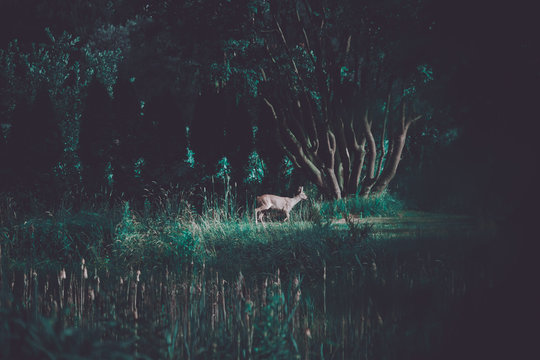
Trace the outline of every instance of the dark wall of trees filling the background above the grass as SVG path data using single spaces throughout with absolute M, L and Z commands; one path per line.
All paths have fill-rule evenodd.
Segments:
M 444 147 L 463 169 L 487 158 L 525 163 L 527 155 L 510 154 L 533 152 L 514 126 L 530 118 L 539 77 L 526 9 L 433 0 L 4 1 L 3 159 L 29 149 L 20 124 L 46 86 L 60 140 L 52 123 L 32 131 L 63 142 L 63 152 L 27 163 L 42 172 L 55 163 L 47 171 L 64 183 L 82 178 L 89 191 L 187 183 L 190 166 L 209 176 L 223 157 L 235 181 L 258 163 L 266 169 L 258 181 L 272 189 L 290 162 L 331 198 L 378 194 L 404 171 L 451 175 L 437 161 Z

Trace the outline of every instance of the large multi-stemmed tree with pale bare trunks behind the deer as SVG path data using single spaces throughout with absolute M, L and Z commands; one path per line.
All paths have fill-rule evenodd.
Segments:
M 429 110 L 415 111 L 432 77 L 418 50 L 420 5 L 251 5 L 248 36 L 225 47 L 224 68 L 248 83 L 257 84 L 254 70 L 260 74 L 280 147 L 329 197 L 384 191 L 409 128 Z

